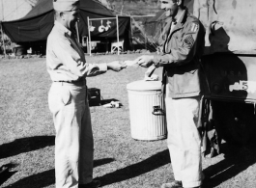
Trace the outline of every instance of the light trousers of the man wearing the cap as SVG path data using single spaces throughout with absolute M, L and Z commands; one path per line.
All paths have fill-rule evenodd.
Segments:
M 57 188 L 77 188 L 92 181 L 94 141 L 86 86 L 53 82 L 48 104 L 56 130 Z

